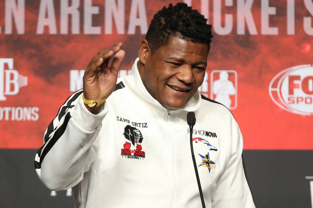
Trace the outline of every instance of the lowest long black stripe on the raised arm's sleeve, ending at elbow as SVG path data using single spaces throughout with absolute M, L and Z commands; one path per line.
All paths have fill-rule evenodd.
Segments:
M 44 157 L 46 156 L 46 154 L 49 152 L 49 150 L 53 147 L 53 145 L 59 140 L 59 138 L 63 135 L 63 133 L 65 132 L 65 129 L 67 127 L 67 124 L 69 123 L 69 119 L 71 118 L 71 114 L 70 112 L 67 113 L 65 115 L 64 118 L 64 122 L 62 123 L 62 125 L 55 131 L 53 137 L 51 138 L 51 140 L 49 141 L 49 143 L 47 144 L 47 146 L 44 148 L 44 151 L 41 153 L 40 156 L 40 162 L 36 163 L 35 161 L 35 168 L 38 169 L 41 167 L 41 163 L 44 159 Z

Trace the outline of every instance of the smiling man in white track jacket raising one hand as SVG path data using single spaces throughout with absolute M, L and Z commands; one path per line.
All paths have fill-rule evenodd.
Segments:
M 255 207 L 238 124 L 198 91 L 212 38 L 206 21 L 170 4 L 151 21 L 129 76 L 117 78 L 122 43 L 90 61 L 83 89 L 61 106 L 36 154 L 49 189 L 73 187 L 75 207 L 201 207 L 186 122 L 194 111 L 206 207 Z

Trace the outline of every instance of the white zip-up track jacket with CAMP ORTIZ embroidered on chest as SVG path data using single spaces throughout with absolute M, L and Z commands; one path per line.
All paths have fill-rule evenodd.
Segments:
M 73 187 L 75 207 L 202 207 L 186 121 L 194 111 L 206 207 L 254 208 L 230 111 L 199 91 L 182 109 L 163 108 L 142 84 L 138 61 L 99 114 L 85 108 L 82 89 L 60 107 L 35 157 L 41 181 L 54 191 Z

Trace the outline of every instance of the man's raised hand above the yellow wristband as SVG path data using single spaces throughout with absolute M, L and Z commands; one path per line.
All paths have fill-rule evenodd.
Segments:
M 118 70 L 125 56 L 125 51 L 120 50 L 121 46 L 122 43 L 117 43 L 99 51 L 98 55 L 94 56 L 89 62 L 83 77 L 85 99 L 98 101 L 108 98 L 113 92 Z M 114 53 L 116 54 L 109 66 L 109 60 Z M 100 106 L 91 108 L 87 104 L 85 106 L 93 114 L 97 114 L 100 108 Z

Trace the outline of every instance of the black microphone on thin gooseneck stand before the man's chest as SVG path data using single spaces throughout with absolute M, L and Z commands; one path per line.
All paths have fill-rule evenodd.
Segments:
M 188 123 L 189 129 L 190 129 L 190 148 L 191 148 L 191 157 L 192 157 L 193 167 L 195 168 L 195 173 L 196 173 L 196 178 L 197 178 L 197 183 L 198 183 L 202 207 L 205 208 L 202 188 L 201 188 L 197 164 L 196 164 L 196 159 L 195 159 L 195 155 L 193 153 L 193 146 L 192 146 L 192 130 L 193 130 L 193 126 L 196 124 L 196 116 L 195 116 L 194 112 L 191 111 L 191 112 L 187 113 L 187 123 Z

